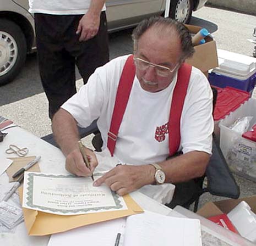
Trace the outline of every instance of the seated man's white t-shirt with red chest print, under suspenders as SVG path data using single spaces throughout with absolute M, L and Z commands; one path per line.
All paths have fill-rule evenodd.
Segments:
M 116 92 L 128 56 L 118 57 L 97 68 L 86 85 L 62 105 L 78 124 L 87 127 L 97 118 L 97 126 L 107 144 Z M 165 90 L 143 90 L 135 76 L 127 108 L 119 128 L 114 155 L 122 163 L 142 165 L 164 161 L 169 155 L 167 123 L 177 75 Z M 212 91 L 206 77 L 192 69 L 181 116 L 179 150 L 211 154 L 214 121 Z

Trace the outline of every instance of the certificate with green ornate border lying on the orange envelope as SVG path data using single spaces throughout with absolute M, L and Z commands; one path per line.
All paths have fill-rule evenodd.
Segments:
M 105 184 L 92 186 L 91 177 L 39 172 L 25 172 L 23 207 L 58 215 L 127 210 L 122 197 Z

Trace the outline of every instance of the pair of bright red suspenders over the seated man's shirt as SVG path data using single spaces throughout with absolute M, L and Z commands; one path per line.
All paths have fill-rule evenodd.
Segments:
M 184 99 L 187 93 L 191 69 L 192 66 L 183 64 L 178 70 L 178 80 L 173 91 L 168 127 L 170 155 L 173 155 L 177 152 L 179 143 L 181 141 L 180 119 Z M 122 75 L 117 88 L 116 102 L 112 114 L 110 131 L 107 133 L 107 147 L 110 150 L 111 156 L 113 156 L 115 150 L 119 127 L 123 119 L 124 111 L 126 110 L 130 91 L 132 90 L 134 76 L 135 65 L 133 63 L 133 55 L 130 55 L 126 61 L 126 64 L 124 64 Z

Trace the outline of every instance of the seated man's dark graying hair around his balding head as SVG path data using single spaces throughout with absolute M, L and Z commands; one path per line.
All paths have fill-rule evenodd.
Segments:
M 160 31 L 166 32 L 166 27 L 168 30 L 176 30 L 179 39 L 181 40 L 182 55 L 179 60 L 183 61 L 194 54 L 194 48 L 192 44 L 192 39 L 186 26 L 178 21 L 170 18 L 164 18 L 161 16 L 153 16 L 149 19 L 144 19 L 139 23 L 139 25 L 133 30 L 132 38 L 134 42 L 134 49 L 137 49 L 138 40 L 143 35 L 143 33 L 150 29 L 150 27 L 159 27 Z

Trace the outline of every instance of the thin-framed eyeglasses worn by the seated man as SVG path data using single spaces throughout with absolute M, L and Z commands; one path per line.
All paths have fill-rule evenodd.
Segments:
M 170 69 L 167 68 L 167 66 L 161 66 L 154 63 L 150 63 L 149 61 L 143 60 L 138 57 L 134 57 L 133 60 L 138 69 L 145 71 L 149 68 L 149 66 L 152 66 L 152 68 L 155 68 L 156 74 L 161 77 L 167 77 L 168 75 L 170 75 L 170 72 L 175 71 L 175 69 L 178 66 L 178 64 L 176 64 L 172 69 Z

